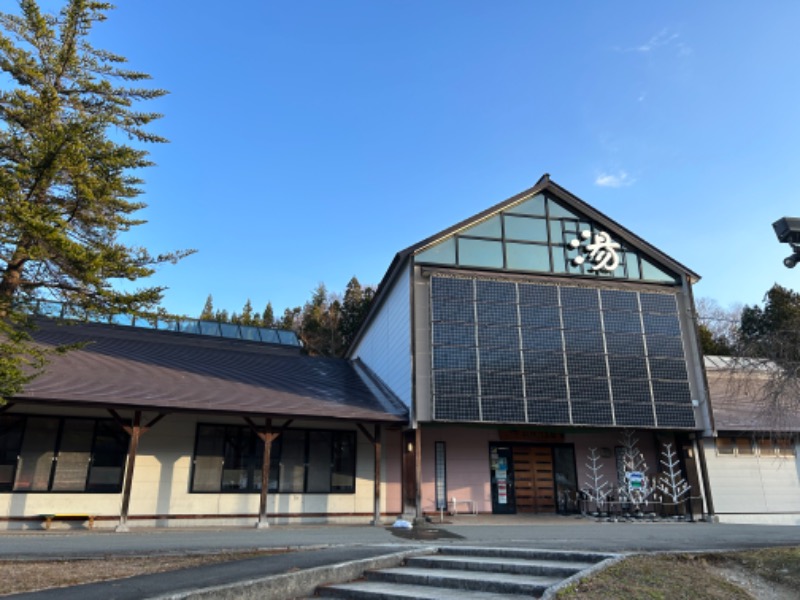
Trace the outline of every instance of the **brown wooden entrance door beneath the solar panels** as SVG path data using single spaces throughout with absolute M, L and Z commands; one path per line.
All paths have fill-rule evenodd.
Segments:
M 514 446 L 514 478 L 517 512 L 556 512 L 549 446 Z

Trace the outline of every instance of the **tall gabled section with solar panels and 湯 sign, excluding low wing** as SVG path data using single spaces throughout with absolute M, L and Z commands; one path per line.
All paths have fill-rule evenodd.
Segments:
M 575 510 L 589 449 L 616 479 L 634 430 L 701 511 L 697 279 L 547 175 L 399 252 L 349 356 L 410 411 L 405 510 Z

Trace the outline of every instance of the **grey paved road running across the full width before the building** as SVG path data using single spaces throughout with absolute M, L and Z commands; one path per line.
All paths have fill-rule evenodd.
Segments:
M 0 532 L 0 557 L 89 557 L 214 552 L 247 548 L 415 544 L 509 545 L 567 550 L 648 552 L 800 545 L 800 527 L 709 523 L 596 523 L 576 517 L 495 515 L 432 523 L 459 536 L 430 541 L 392 535 L 368 525 L 283 525 L 268 529 L 85 529 Z

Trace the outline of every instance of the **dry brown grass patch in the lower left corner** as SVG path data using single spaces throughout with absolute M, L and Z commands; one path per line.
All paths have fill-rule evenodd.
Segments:
M 279 554 L 285 551 L 246 550 L 216 554 L 107 556 L 75 560 L 2 560 L 0 595 L 19 594 L 47 588 L 67 587 L 109 579 L 124 579 L 134 575 L 177 571 L 188 567 L 242 560 Z

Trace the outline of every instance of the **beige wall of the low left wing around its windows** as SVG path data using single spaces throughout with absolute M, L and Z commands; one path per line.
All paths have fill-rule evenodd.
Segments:
M 81 409 L 52 410 L 42 407 L 16 408 L 15 413 L 51 414 L 54 416 L 86 416 L 107 418 L 108 413 Z M 155 413 L 147 413 L 146 423 Z M 123 416 L 128 416 L 123 413 Z M 280 420 L 276 420 L 280 424 Z M 247 524 L 255 522 L 259 510 L 259 494 L 189 492 L 192 454 L 197 423 L 231 423 L 241 425 L 241 418 L 214 415 L 168 415 L 140 439 L 136 458 L 129 511 L 129 525 L 197 526 L 217 524 Z M 325 421 L 295 421 L 292 428 L 348 429 L 349 424 Z M 370 426 L 369 430 L 372 429 Z M 397 431 L 387 431 L 383 439 L 381 512 L 397 513 L 400 506 L 400 460 Z M 374 451 L 363 434 L 357 435 L 356 491 L 354 494 L 270 494 L 268 513 L 316 513 L 321 521 L 368 522 L 374 509 Z M 0 528 L 32 526 L 39 523 L 9 521 L 9 517 L 37 517 L 51 513 L 86 513 L 101 517 L 98 527 L 116 526 L 122 494 L 59 494 L 59 493 L 2 493 L 0 494 Z M 352 516 L 352 515 L 356 516 Z M 197 519 L 159 519 L 165 515 L 206 517 Z M 249 515 L 232 519 L 226 515 Z M 106 519 L 102 519 L 106 517 Z M 142 520 L 146 517 L 146 520 Z M 282 519 L 285 521 L 285 519 Z

